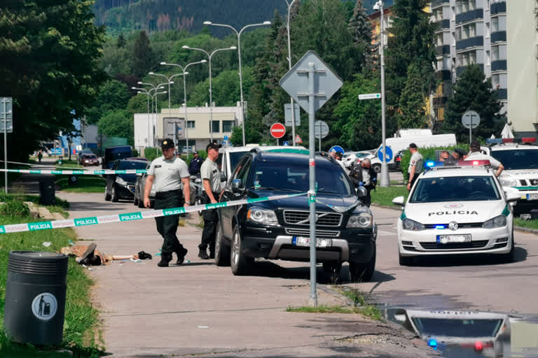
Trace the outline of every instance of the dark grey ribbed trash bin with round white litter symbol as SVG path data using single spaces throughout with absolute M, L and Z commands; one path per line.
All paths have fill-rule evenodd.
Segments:
M 62 343 L 67 260 L 55 252 L 9 253 L 4 327 L 11 340 Z

